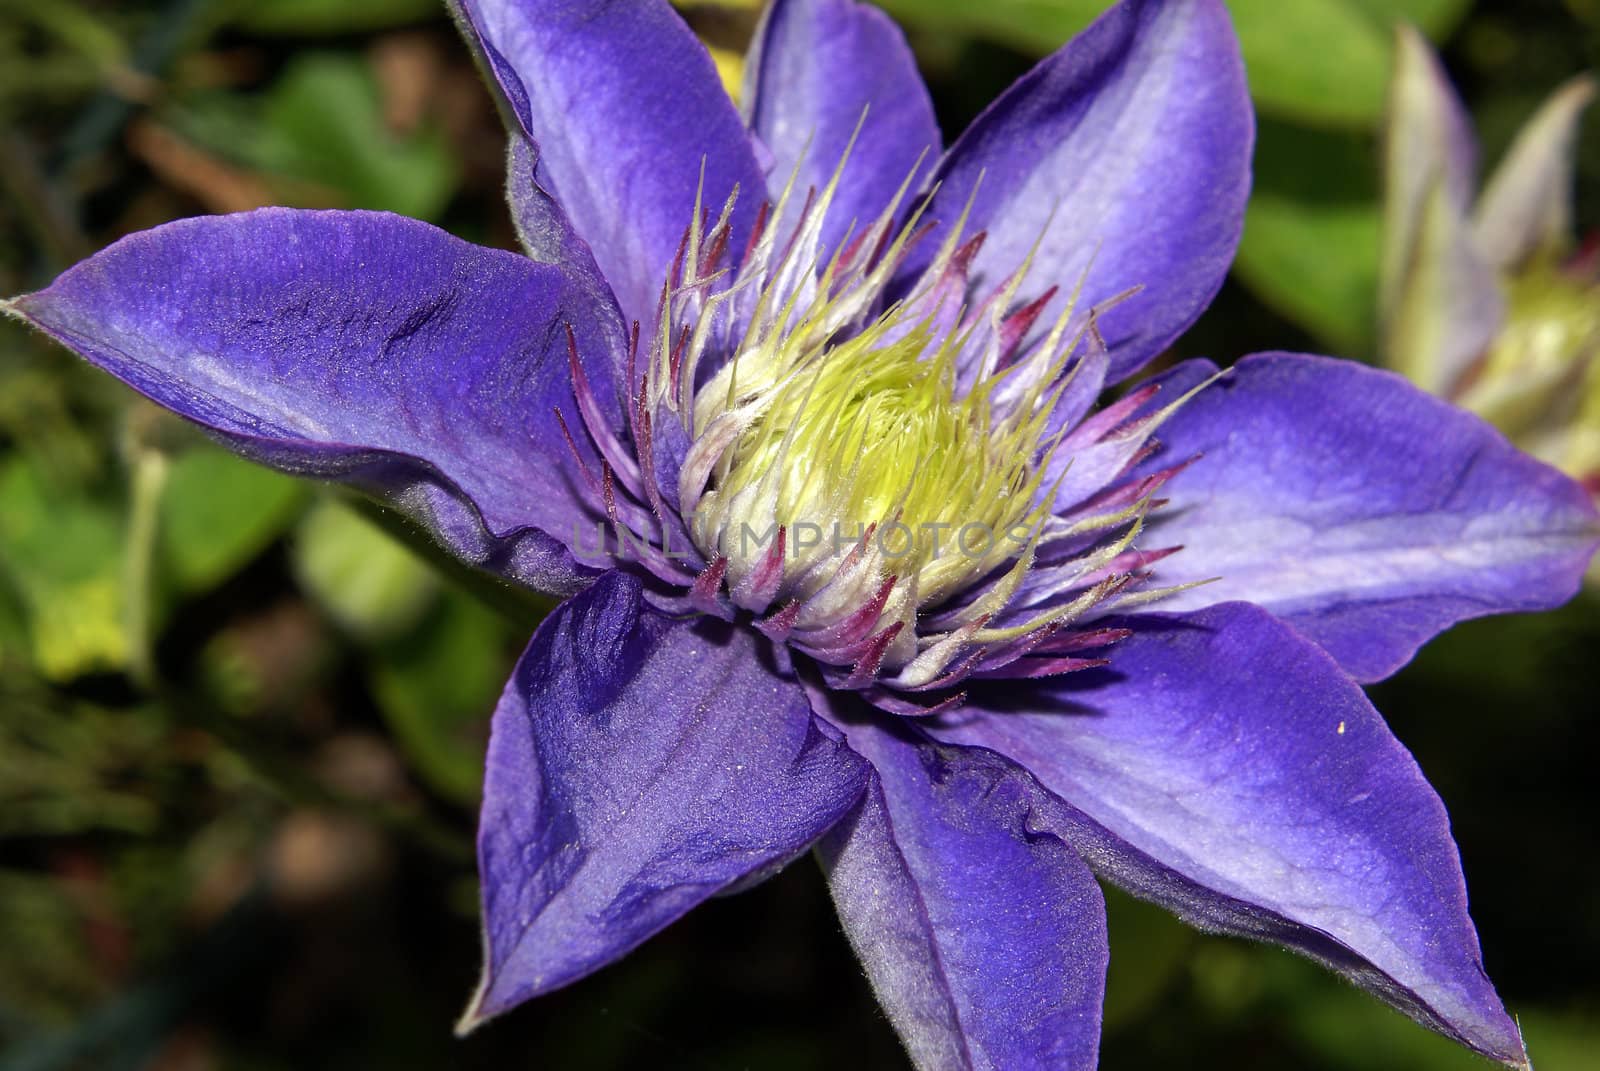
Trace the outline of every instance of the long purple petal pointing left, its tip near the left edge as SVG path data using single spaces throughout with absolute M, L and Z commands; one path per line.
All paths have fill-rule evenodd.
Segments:
M 267 208 L 131 235 L 10 307 L 238 453 L 374 491 L 554 592 L 594 570 L 552 408 L 566 333 L 602 402 L 621 325 L 568 267 L 382 213 Z

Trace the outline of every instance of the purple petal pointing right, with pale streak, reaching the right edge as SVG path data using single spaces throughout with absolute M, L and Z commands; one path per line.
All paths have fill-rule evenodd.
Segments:
M 1211 371 L 1181 365 L 1160 397 Z M 1144 543 L 1182 546 L 1157 584 L 1218 578 L 1162 610 L 1242 599 L 1362 680 L 1442 629 L 1570 599 L 1600 540 L 1584 490 L 1477 416 L 1355 362 L 1246 357 L 1157 432 L 1165 485 Z M 1142 472 L 1141 471 L 1141 472 Z

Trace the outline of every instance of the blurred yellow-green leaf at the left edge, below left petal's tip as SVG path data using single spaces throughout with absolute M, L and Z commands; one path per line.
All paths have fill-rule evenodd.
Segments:
M 115 503 L 45 480 L 29 458 L 0 464 L 0 568 L 26 607 L 34 661 L 53 680 L 128 663 L 123 523 Z

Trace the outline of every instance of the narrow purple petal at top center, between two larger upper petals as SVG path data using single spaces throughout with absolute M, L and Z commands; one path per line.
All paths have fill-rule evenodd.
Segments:
M 827 186 L 861 126 L 822 226 L 824 263 L 851 224 L 859 234 L 888 208 L 918 162 L 931 170 L 939 158 L 933 102 L 904 35 L 856 0 L 773 3 L 755 34 L 746 86 L 750 128 L 773 154 L 773 200 L 790 174 L 802 194 Z

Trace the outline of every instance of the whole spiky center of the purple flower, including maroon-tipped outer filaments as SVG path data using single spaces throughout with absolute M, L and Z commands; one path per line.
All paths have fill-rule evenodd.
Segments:
M 659 525 L 632 549 L 661 605 L 744 616 L 885 709 L 1104 664 L 1093 652 L 1125 631 L 1096 618 L 1171 591 L 1144 581 L 1176 548 L 1133 544 L 1186 464 L 1139 469 L 1184 399 L 1155 408 L 1146 386 L 1091 415 L 1106 306 L 1074 295 L 1042 320 L 1056 290 L 1019 298 L 1030 255 L 974 293 L 982 235 L 963 239 L 965 216 L 909 272 L 910 178 L 826 251 L 837 181 L 763 205 L 742 255 L 734 202 L 696 208 L 645 347 L 635 330 L 626 439 L 570 339 L 595 514 Z

